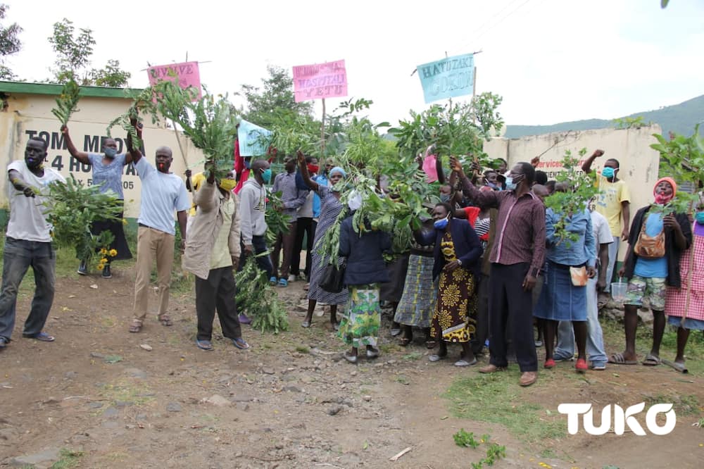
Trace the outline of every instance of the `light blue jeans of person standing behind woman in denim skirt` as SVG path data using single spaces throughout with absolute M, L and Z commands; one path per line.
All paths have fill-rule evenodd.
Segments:
M 597 277 L 590 278 L 586 283 L 586 354 L 591 363 L 605 364 L 604 335 L 599 324 L 599 308 L 596 294 Z M 558 326 L 558 346 L 555 347 L 555 358 L 572 358 L 574 355 L 574 330 L 570 321 L 560 321 Z

